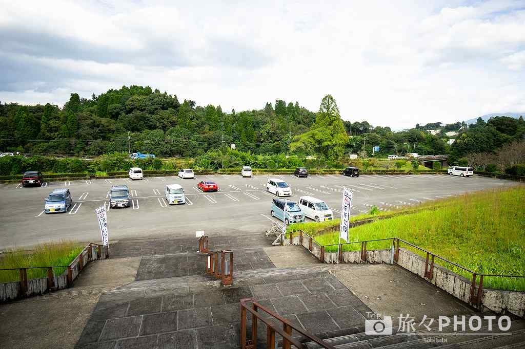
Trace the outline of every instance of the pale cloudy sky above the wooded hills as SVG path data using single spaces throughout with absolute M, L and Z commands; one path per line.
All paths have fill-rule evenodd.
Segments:
M 332 94 L 343 119 L 395 129 L 525 111 L 525 0 L 0 8 L 2 103 L 137 84 L 224 111 L 276 99 L 317 111 Z

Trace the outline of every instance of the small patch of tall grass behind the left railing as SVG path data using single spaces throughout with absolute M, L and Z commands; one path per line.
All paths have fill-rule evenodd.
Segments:
M 35 246 L 31 250 L 20 248 L 7 250 L 0 255 L 0 269 L 23 267 L 67 266 L 85 246 L 71 241 L 53 242 Z M 53 268 L 60 275 L 66 267 Z M 47 269 L 27 269 L 27 279 L 45 278 Z M 0 270 L 0 282 L 20 280 L 18 270 Z

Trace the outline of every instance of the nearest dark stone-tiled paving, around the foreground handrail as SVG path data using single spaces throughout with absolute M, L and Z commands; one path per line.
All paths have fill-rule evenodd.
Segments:
M 366 312 L 372 312 L 329 272 L 276 275 L 245 280 L 240 287 L 101 298 L 77 347 L 238 347 L 239 301 L 251 297 L 321 337 L 361 332 Z M 260 322 L 259 336 L 264 342 Z

